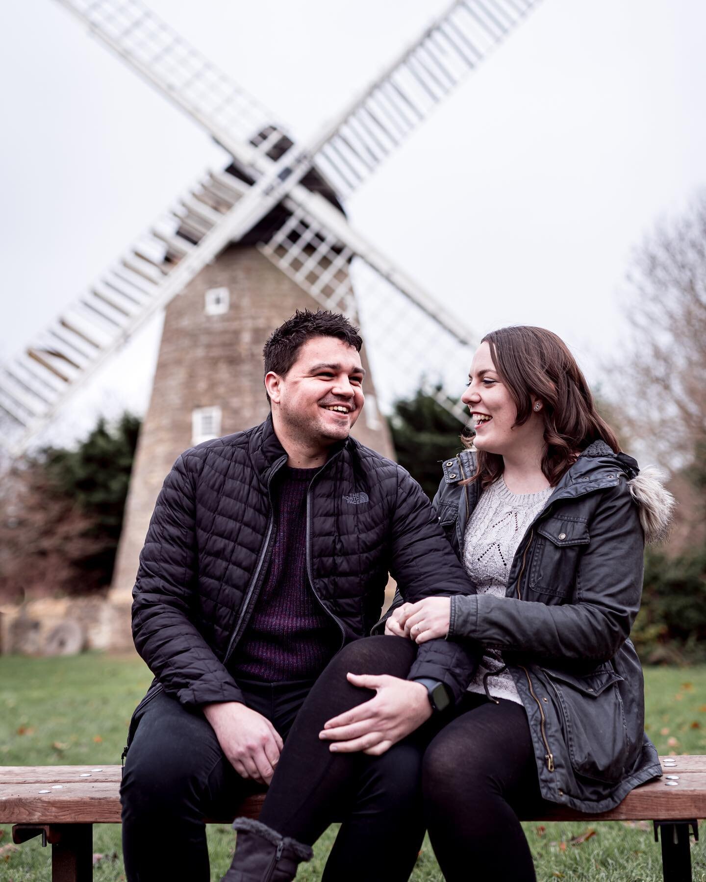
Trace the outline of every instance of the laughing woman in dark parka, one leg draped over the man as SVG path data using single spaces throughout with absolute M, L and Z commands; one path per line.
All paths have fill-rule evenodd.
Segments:
M 335 818 L 361 752 L 384 759 L 393 744 L 406 774 L 426 747 L 424 815 L 450 880 L 534 879 L 517 819 L 525 806 L 605 811 L 661 774 L 627 638 L 644 537 L 664 532 L 672 497 L 620 452 L 555 334 L 488 334 L 463 401 L 476 451 L 445 461 L 434 505 L 478 594 L 400 600 L 387 617 L 392 637 L 357 640 L 334 658 L 297 717 L 259 822 L 236 822 L 247 835 L 228 880 L 293 878 L 310 854 L 300 843 Z M 409 637 L 471 640 L 484 654 L 457 706 L 432 719 L 427 708 L 401 727 L 379 699 L 402 688 Z M 429 684 L 406 684 L 405 695 L 424 688 L 431 694 Z M 418 812 L 409 800 L 406 834 L 395 833 L 387 865 L 366 878 L 407 878 Z M 344 876 L 338 863 L 336 882 Z

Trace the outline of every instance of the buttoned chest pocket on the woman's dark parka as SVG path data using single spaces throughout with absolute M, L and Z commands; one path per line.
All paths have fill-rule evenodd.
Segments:
M 570 594 L 579 556 L 589 542 L 589 529 L 583 521 L 560 517 L 540 521 L 530 566 L 530 588 L 556 597 Z

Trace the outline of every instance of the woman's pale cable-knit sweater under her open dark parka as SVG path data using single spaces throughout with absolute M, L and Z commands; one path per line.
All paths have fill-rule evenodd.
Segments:
M 505 597 L 514 552 L 551 495 L 551 487 L 538 493 L 511 493 L 502 475 L 481 493 L 466 526 L 463 543 L 463 566 L 478 594 Z M 483 695 L 484 674 L 499 670 L 504 664 L 499 650 L 486 649 L 468 691 Z M 509 671 L 489 676 L 487 682 L 492 698 L 522 704 Z

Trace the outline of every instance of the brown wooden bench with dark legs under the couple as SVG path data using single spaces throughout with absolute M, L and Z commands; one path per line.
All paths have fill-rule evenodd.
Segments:
M 652 820 L 661 831 L 665 882 L 691 877 L 689 836 L 706 817 L 706 757 L 663 757 L 665 777 L 636 788 L 612 811 L 588 815 L 559 805 L 532 821 Z M 0 766 L 0 824 L 13 824 L 12 841 L 41 836 L 51 845 L 53 882 L 93 877 L 94 824 L 119 824 L 120 766 Z M 264 795 L 251 796 L 236 815 L 257 818 Z M 207 818 L 229 823 L 233 818 Z

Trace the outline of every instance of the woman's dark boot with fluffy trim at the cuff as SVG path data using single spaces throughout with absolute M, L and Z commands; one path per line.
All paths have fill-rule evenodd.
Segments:
M 308 845 L 282 836 L 260 821 L 236 818 L 236 854 L 221 882 L 290 882 L 302 861 L 312 860 Z

